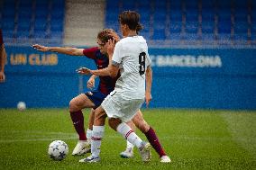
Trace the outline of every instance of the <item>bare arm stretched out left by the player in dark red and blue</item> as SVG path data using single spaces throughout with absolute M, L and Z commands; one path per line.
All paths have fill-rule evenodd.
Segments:
M 58 52 L 60 54 L 67 54 L 70 56 L 83 56 L 84 49 L 77 49 L 77 48 L 69 48 L 69 47 L 46 47 L 40 44 L 32 45 L 33 49 L 37 49 L 42 52 L 51 51 L 51 52 Z

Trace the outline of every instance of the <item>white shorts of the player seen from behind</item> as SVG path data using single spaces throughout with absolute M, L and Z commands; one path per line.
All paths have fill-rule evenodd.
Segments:
M 144 99 L 124 99 L 122 94 L 116 91 L 105 97 L 101 106 L 108 118 L 119 118 L 123 122 L 131 121 L 133 116 L 142 107 Z

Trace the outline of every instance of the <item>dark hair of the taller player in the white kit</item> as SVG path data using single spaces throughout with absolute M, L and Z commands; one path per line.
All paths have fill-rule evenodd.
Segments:
M 128 25 L 130 30 L 138 32 L 143 29 L 142 24 L 140 23 L 140 14 L 135 11 L 124 11 L 119 14 L 118 20 L 121 24 Z

